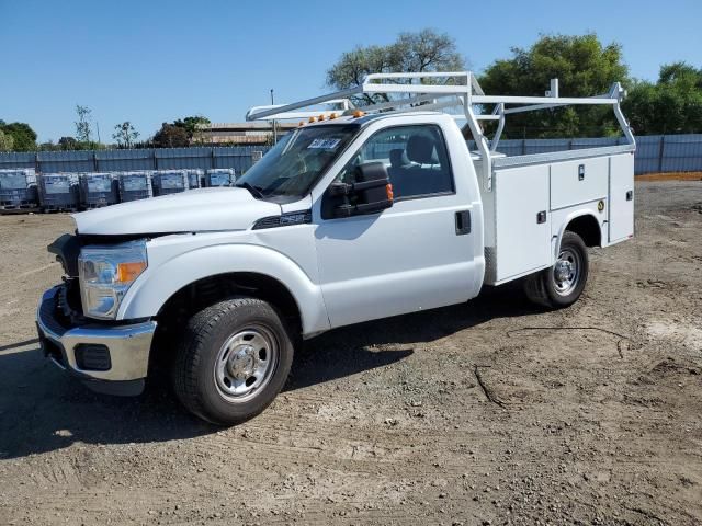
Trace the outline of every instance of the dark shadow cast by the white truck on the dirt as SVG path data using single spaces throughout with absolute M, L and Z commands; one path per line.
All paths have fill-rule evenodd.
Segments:
M 520 291 L 507 287 L 488 290 L 468 304 L 335 330 L 303 345 L 285 390 L 387 366 L 409 356 L 417 342 L 534 311 Z M 400 348 L 375 348 L 386 344 Z M 16 351 L 23 345 L 30 350 Z M 76 442 L 166 442 L 219 430 L 188 414 L 163 377 L 151 380 L 140 397 L 101 396 L 57 370 L 31 340 L 3 348 L 9 353 L 0 355 L 0 459 L 61 449 Z

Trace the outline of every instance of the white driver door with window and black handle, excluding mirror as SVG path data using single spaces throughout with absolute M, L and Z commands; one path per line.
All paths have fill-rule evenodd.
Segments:
M 475 295 L 471 204 L 455 191 L 441 128 L 381 129 L 336 180 L 348 182 L 355 165 L 377 161 L 387 167 L 393 207 L 346 218 L 321 217 L 322 207 L 315 207 L 319 277 L 331 327 L 458 304 Z

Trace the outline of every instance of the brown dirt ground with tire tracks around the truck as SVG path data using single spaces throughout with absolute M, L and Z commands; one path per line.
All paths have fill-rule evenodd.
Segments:
M 702 524 L 702 182 L 637 183 L 585 296 L 337 330 L 228 430 L 37 348 L 63 215 L 0 217 L 0 524 Z

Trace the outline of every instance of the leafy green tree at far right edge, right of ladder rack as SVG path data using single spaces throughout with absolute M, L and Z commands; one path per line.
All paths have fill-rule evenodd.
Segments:
M 702 133 L 702 69 L 664 65 L 656 83 L 632 85 L 623 108 L 638 135 Z

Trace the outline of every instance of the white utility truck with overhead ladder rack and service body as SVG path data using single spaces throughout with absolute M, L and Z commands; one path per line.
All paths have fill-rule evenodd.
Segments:
M 387 102 L 351 102 L 380 93 Z M 66 276 L 38 307 L 43 348 L 103 392 L 138 393 L 167 365 L 182 403 L 226 425 L 271 403 L 301 338 L 520 278 L 536 302 L 567 307 L 587 248 L 633 236 L 622 96 L 619 83 L 589 99 L 558 96 L 557 81 L 546 96 L 499 96 L 471 72 L 392 73 L 252 108 L 249 119 L 304 121 L 235 187 L 73 216 L 76 233 L 49 245 Z M 312 111 L 325 104 L 337 110 Z M 570 104 L 610 105 L 626 144 L 498 152 L 506 117 Z

